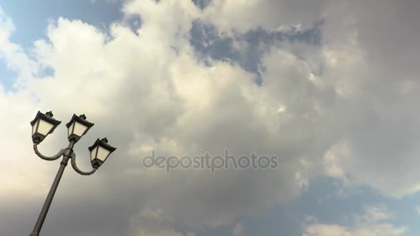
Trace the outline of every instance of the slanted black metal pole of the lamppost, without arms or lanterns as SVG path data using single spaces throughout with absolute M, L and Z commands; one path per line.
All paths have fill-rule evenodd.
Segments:
M 50 205 L 53 201 L 53 197 L 55 195 L 55 191 L 57 190 L 61 176 L 63 176 L 64 169 L 66 168 L 68 163 L 68 159 L 70 159 L 71 154 L 73 153 L 73 146 L 75 146 L 75 142 L 70 141 L 70 144 L 68 144 L 68 148 L 66 149 L 66 153 L 64 153 L 63 160 L 60 163 L 60 168 L 58 169 L 57 175 L 55 176 L 55 179 L 53 181 L 53 185 L 50 188 L 50 193 L 48 193 L 44 206 L 42 207 L 41 213 L 39 213 L 37 223 L 35 224 L 34 230 L 32 230 L 30 236 L 39 236 L 39 231 L 41 231 L 42 225 L 44 224 L 45 217 L 47 216 L 48 210 L 50 209 Z

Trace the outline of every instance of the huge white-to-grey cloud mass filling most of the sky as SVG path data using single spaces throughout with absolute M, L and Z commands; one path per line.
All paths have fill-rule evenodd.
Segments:
M 35 41 L 28 52 L 10 41 L 14 26 L 0 12 L 0 55 L 19 75 L 19 90 L 0 93 L 0 108 L 8 110 L 0 126 L 9 134 L 3 140 L 7 158 L 1 163 L 9 168 L 0 173 L 1 200 L 16 204 L 17 196 L 33 197 L 37 202 L 32 204 L 41 204 L 57 168 L 57 163 L 32 158 L 28 121 L 37 110 L 53 110 L 63 121 L 73 112 L 86 113 L 95 122 L 77 144 L 82 168 L 89 168 L 82 156 L 87 158 L 86 147 L 96 137 L 108 135 L 118 147 L 86 180 L 66 172 L 57 208 L 50 213 L 55 217 L 45 228 L 50 235 L 94 234 L 95 225 L 104 222 L 113 223 L 101 228 L 101 235 L 188 235 L 201 226 L 233 224 L 239 216 L 285 204 L 317 175 L 367 184 L 394 197 L 415 192 L 419 112 L 413 108 L 419 83 L 412 46 L 419 34 L 408 30 L 415 27 L 415 10 L 407 17 L 386 16 L 405 15 L 417 4 L 375 3 L 381 6 L 372 13 L 361 1 L 213 0 L 202 10 L 191 1 L 127 1 L 123 11 L 127 19 L 140 17 L 140 28 L 132 30 L 123 20 L 102 32 L 59 18 L 48 26 L 47 39 Z M 372 25 L 375 17 L 381 27 Z M 195 52 L 189 39 L 196 19 L 219 32 L 240 33 L 310 28 L 322 21 L 322 40 L 321 45 L 279 41 L 261 47 L 262 83 L 256 84 L 256 75 L 240 63 Z M 404 42 L 400 50 L 394 47 L 399 40 Z M 241 43 L 235 41 L 234 49 L 241 50 Z M 39 73 L 43 68 L 53 74 Z M 65 135 L 64 127 L 57 129 L 43 151 L 64 146 Z M 151 149 L 182 156 L 200 150 L 220 155 L 226 148 L 238 156 L 279 155 L 280 167 L 166 175 L 141 166 Z M 12 211 L 10 206 L 0 208 Z M 68 215 L 59 216 L 59 210 Z M 107 215 L 109 210 L 114 215 Z M 306 230 L 314 235 L 405 232 L 379 223 L 388 219 L 383 212 L 367 210 L 373 215 L 366 213 L 363 221 L 372 219 L 372 224 L 311 224 Z M 77 220 L 80 214 L 89 221 Z M 59 223 L 68 219 L 75 220 L 77 232 Z M 155 227 L 146 228 L 144 222 Z M 175 229 L 180 222 L 191 230 Z M 233 233 L 243 230 L 238 224 Z

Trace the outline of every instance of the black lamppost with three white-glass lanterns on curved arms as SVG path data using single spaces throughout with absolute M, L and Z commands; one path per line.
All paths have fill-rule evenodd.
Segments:
M 63 156 L 63 159 L 60 162 L 60 167 L 58 169 L 57 175 L 55 176 L 55 179 L 53 181 L 53 185 L 50 188 L 50 192 L 48 193 L 44 206 L 42 207 L 41 213 L 39 213 L 37 223 L 35 224 L 34 230 L 32 230 L 30 236 L 39 236 L 39 231 L 42 228 L 42 224 L 44 224 L 45 217 L 48 213 L 48 209 L 50 208 L 51 201 L 53 201 L 53 197 L 55 195 L 55 191 L 57 190 L 57 186 L 59 184 L 61 176 L 64 173 L 64 168 L 66 168 L 67 166 L 68 159 L 71 159 L 71 166 L 73 166 L 73 169 L 77 173 L 79 173 L 80 175 L 92 175 L 93 173 L 95 173 L 97 168 L 99 168 L 99 166 L 101 166 L 104 163 L 104 161 L 106 161 L 106 158 L 111 153 L 113 153 L 115 149 L 117 149 L 110 146 L 106 138 L 97 139 L 95 141 L 95 144 L 88 148 L 88 150 L 90 151 L 90 163 L 92 164 L 93 169 L 89 172 L 84 172 L 77 168 L 76 155 L 75 153 L 73 153 L 73 147 L 75 146 L 77 141 L 79 141 L 79 139 L 82 138 L 82 136 L 85 135 L 86 132 L 88 132 L 88 130 L 93 126 L 93 123 L 86 121 L 85 115 L 73 115 L 70 122 L 66 124 L 68 128 L 68 147 L 65 149 L 61 149 L 57 153 L 57 155 L 53 157 L 46 157 L 39 153 L 38 145 L 41 144 L 41 141 L 43 141 L 50 133 L 53 133 L 53 131 L 55 130 L 55 128 L 57 128 L 57 126 L 59 126 L 59 124 L 61 124 L 61 121 L 57 121 L 53 118 L 53 112 L 46 112 L 45 114 L 38 112 L 35 119 L 30 122 L 30 125 L 32 126 L 32 142 L 34 144 L 35 153 L 38 155 L 38 157 L 41 157 L 41 159 L 47 161 L 54 161 L 56 159 L 59 159 L 59 157 Z

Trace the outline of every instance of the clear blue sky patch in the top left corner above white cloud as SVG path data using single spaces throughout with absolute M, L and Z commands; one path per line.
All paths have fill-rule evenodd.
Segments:
M 64 17 L 82 19 L 84 22 L 107 30 L 110 23 L 122 18 L 121 3 L 99 1 L 97 3 L 76 1 L 5 1 L 1 4 L 4 12 L 13 19 L 17 28 L 11 40 L 24 47 L 32 46 L 36 39 L 44 39 L 50 19 Z

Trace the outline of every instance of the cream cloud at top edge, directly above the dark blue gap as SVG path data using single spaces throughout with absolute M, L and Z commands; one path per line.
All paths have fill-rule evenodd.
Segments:
M 247 32 L 256 28 L 277 30 L 290 25 L 310 28 L 324 17 L 329 1 L 222 1 L 213 0 L 204 9 L 203 18 L 224 32 Z

